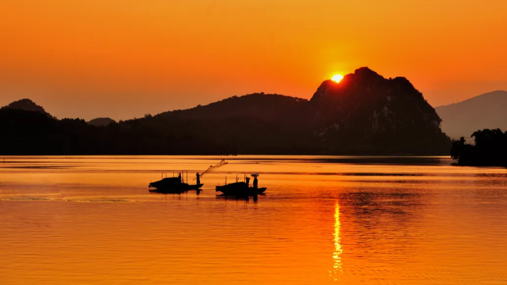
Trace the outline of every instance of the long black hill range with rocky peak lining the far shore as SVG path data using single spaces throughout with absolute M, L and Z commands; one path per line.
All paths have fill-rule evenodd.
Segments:
M 0 123 L 12 137 L 3 154 L 441 155 L 451 145 L 407 79 L 367 67 L 324 81 L 311 100 L 255 93 L 101 126 L 10 110 Z

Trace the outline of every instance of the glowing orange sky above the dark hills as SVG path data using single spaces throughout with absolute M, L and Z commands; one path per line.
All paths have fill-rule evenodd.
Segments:
M 0 105 L 114 119 L 405 76 L 433 106 L 507 90 L 505 0 L 2 0 Z

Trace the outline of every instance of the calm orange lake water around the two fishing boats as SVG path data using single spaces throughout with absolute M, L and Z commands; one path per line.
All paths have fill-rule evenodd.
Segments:
M 0 284 L 506 284 L 507 170 L 447 158 L 0 158 Z M 266 195 L 214 186 L 261 174 Z

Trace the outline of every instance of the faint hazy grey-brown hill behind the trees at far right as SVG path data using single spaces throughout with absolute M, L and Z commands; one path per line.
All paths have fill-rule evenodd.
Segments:
M 482 129 L 507 129 L 507 91 L 482 94 L 435 110 L 443 120 L 442 130 L 455 139 Z

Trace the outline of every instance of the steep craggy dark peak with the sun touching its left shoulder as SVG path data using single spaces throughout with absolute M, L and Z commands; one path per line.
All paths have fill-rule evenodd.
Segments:
M 310 103 L 317 136 L 329 148 L 414 153 L 449 143 L 436 111 L 403 77 L 361 67 L 340 83 L 324 81 Z

